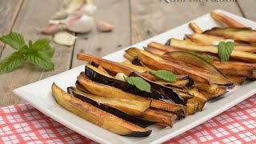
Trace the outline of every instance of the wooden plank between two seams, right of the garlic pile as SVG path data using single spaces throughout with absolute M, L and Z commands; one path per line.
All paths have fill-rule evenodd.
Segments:
M 98 10 L 94 15 L 95 21 L 103 20 L 114 24 L 115 28 L 109 33 L 100 33 L 95 27 L 89 34 L 78 34 L 74 46 L 72 67 L 84 62 L 76 59 L 76 54 L 86 53 L 104 56 L 130 46 L 130 9 L 127 0 L 94 0 Z

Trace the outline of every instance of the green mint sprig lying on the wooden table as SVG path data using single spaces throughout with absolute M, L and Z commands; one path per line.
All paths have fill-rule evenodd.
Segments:
M 10 32 L 2 36 L 0 41 L 17 50 L 0 62 L 0 74 L 9 73 L 25 62 L 30 62 L 42 70 L 54 70 L 54 63 L 51 61 L 54 48 L 50 46 L 49 39 L 41 38 L 34 43 L 29 41 L 26 45 L 22 34 Z

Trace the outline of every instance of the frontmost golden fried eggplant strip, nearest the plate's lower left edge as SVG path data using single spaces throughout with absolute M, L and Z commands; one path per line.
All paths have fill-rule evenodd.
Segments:
M 104 110 L 100 110 L 90 103 L 75 98 L 59 88 L 55 83 L 52 85 L 51 89 L 54 99 L 60 106 L 88 122 L 102 127 L 102 129 L 109 130 L 114 134 L 129 137 L 146 137 L 152 132 L 152 130 L 146 130 L 122 118 L 118 118 L 113 114 L 107 113 Z

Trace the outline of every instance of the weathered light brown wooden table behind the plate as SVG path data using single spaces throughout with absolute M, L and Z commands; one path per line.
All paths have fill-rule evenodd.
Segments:
M 187 0 L 189 1 L 189 0 Z M 51 38 L 50 35 L 38 34 L 37 29 L 48 24 L 50 16 L 56 12 L 62 0 L 1 0 L 0 1 L 0 34 L 10 31 L 22 33 L 25 38 Z M 211 10 L 222 9 L 256 20 L 256 3 L 254 0 L 239 2 L 170 2 L 160 0 L 95 0 L 98 11 L 94 18 L 113 23 L 116 28 L 110 33 L 99 33 L 96 30 L 89 34 L 77 34 L 74 46 L 55 47 L 53 61 L 55 70 L 39 70 L 26 64 L 9 74 L 0 75 L 0 106 L 22 102 L 12 90 L 54 74 L 62 73 L 82 62 L 76 59 L 77 53 L 88 53 L 98 56 L 113 53 L 170 30 L 184 22 L 206 14 Z M 28 40 L 26 39 L 26 40 Z M 11 52 L 9 46 L 0 43 L 0 60 Z

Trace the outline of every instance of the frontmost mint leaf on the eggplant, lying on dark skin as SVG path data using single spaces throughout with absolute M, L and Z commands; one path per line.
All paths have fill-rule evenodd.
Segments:
M 150 84 L 140 77 L 126 77 L 125 80 L 130 83 L 130 85 L 136 86 L 138 90 L 146 91 L 148 93 L 151 92 Z

